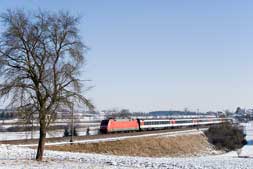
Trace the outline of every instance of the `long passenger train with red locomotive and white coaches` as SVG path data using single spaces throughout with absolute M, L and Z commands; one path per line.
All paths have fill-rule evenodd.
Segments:
M 195 119 L 106 119 L 100 124 L 100 133 L 159 130 L 181 127 L 202 127 L 229 122 L 229 118 L 195 118 Z

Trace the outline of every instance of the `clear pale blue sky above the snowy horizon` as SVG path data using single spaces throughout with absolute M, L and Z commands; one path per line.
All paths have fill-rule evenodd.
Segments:
M 85 93 L 99 109 L 253 107 L 253 1 L 1 0 L 81 15 Z

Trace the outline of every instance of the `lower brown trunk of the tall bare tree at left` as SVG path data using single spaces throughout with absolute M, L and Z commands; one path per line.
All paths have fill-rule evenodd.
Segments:
M 42 122 L 40 124 L 40 138 L 39 138 L 39 145 L 38 145 L 37 155 L 36 155 L 37 161 L 42 161 L 43 159 L 45 141 L 46 141 L 46 127 L 45 127 L 45 123 Z

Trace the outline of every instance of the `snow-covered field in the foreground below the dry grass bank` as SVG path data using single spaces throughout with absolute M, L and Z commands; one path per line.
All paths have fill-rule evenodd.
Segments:
M 253 138 L 253 123 L 246 125 L 247 139 Z M 251 156 L 253 145 L 242 149 L 241 156 Z M 36 162 L 36 151 L 0 145 L 0 168 L 171 168 L 171 169 L 251 169 L 253 158 L 238 158 L 236 152 L 203 157 L 144 158 L 101 154 L 46 151 L 45 161 Z

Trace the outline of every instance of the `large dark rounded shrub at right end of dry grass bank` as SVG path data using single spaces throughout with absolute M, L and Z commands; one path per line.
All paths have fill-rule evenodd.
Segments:
M 247 144 L 243 130 L 230 123 L 211 126 L 206 132 L 208 141 L 217 149 L 236 150 Z

